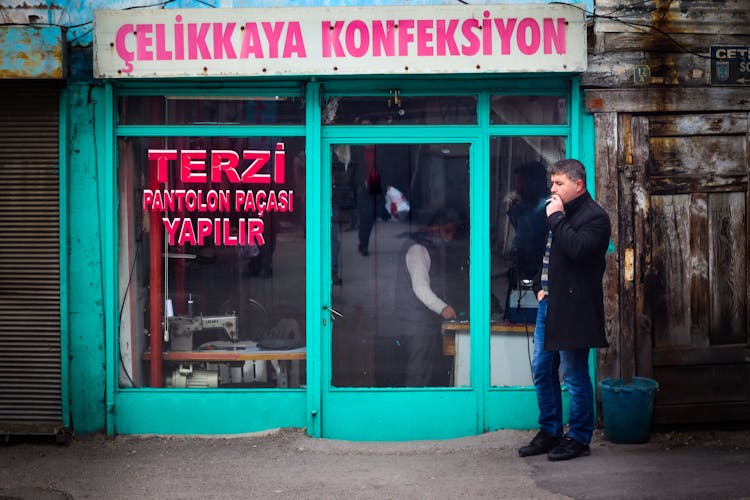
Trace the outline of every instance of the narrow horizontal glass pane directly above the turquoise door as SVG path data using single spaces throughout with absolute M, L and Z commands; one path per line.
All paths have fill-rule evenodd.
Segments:
M 325 125 L 475 125 L 476 96 L 332 97 Z

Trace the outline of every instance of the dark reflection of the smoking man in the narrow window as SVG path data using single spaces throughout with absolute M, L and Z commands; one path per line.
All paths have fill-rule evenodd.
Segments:
M 523 279 L 532 279 L 544 256 L 547 236 L 544 200 L 549 193 L 547 171 L 538 161 L 520 165 L 514 171 L 516 191 L 508 208 L 513 225 L 510 283 L 516 287 Z

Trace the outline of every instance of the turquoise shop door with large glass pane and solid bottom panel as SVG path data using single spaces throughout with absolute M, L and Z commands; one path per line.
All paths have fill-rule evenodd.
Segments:
M 471 395 L 449 392 L 456 366 L 446 346 L 450 326 L 469 320 L 470 157 L 468 141 L 324 147 L 324 436 L 438 437 L 438 424 L 455 435 L 450 421 L 466 427 L 458 434 L 475 432 L 474 404 L 458 404 Z

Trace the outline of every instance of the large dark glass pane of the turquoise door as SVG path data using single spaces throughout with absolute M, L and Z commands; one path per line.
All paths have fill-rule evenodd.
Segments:
M 332 384 L 449 386 L 443 323 L 468 321 L 467 144 L 331 150 Z

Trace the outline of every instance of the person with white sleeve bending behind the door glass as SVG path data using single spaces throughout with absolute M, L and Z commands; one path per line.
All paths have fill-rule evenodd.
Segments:
M 432 384 L 438 359 L 440 324 L 456 318 L 456 311 L 444 301 L 446 243 L 453 239 L 458 216 L 438 211 L 428 226 L 410 236 L 399 254 L 393 315 L 406 349 L 405 385 Z

